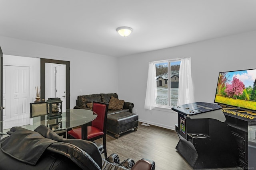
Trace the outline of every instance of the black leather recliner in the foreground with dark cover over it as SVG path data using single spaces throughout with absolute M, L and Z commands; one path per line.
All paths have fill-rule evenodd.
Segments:
M 152 160 L 142 159 L 135 165 L 119 164 L 116 155 L 107 160 L 98 147 L 80 139 L 65 139 L 45 125 L 34 131 L 12 127 L 10 136 L 0 141 L 1 170 L 154 170 Z M 109 162 L 110 161 L 110 162 Z M 130 162 L 129 162 L 130 161 Z

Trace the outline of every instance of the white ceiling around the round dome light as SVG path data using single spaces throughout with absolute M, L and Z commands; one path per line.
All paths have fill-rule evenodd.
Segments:
M 114 57 L 256 30 L 256 0 L 0 0 L 0 35 Z M 120 26 L 133 32 L 121 37 Z

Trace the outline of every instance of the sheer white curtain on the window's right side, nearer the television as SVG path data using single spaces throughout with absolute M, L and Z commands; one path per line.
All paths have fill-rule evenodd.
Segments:
M 194 102 L 194 88 L 191 77 L 191 59 L 183 58 L 180 63 L 179 95 L 177 105 Z

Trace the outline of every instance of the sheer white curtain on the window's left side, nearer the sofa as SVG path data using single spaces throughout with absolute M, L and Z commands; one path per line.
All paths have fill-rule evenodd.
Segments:
M 145 109 L 152 110 L 156 107 L 156 65 L 154 63 L 148 64 L 148 83 L 146 90 Z

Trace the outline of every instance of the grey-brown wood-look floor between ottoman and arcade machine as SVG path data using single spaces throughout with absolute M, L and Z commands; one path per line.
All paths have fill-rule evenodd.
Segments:
M 176 131 L 150 125 L 140 125 L 138 131 L 121 134 L 118 139 L 107 133 L 107 154 L 117 153 L 120 161 L 127 158 L 135 162 L 141 158 L 152 159 L 156 170 L 193 170 L 180 156 L 175 147 L 179 138 Z M 102 143 L 102 139 L 95 142 Z M 104 157 L 104 154 L 102 154 Z M 238 168 L 215 168 L 204 170 L 235 170 Z M 198 169 L 199 170 L 199 169 Z

